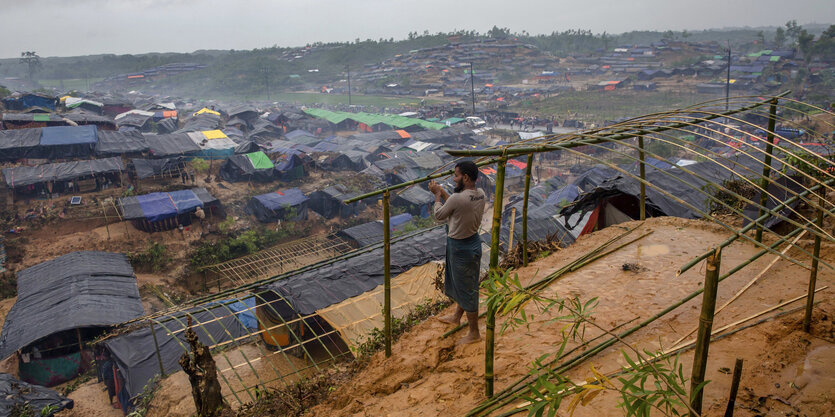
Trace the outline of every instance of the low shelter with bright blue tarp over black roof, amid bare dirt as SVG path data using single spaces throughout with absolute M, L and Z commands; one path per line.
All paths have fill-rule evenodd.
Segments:
M 205 215 L 220 209 L 217 198 L 202 187 L 150 193 L 119 199 L 122 218 L 145 232 L 161 232 L 191 224 L 191 214 L 201 207 Z

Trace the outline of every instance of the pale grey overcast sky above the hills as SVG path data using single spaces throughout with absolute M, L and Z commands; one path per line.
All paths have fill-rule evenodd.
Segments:
M 0 0 L 0 57 L 191 52 L 455 29 L 690 31 L 835 23 L 833 0 Z

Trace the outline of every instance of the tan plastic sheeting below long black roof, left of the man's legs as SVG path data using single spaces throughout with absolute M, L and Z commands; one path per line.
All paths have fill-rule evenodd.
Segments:
M 427 299 L 437 301 L 445 296 L 434 282 L 443 270 L 440 262 L 429 262 L 412 268 L 391 280 L 391 314 L 402 318 L 412 308 Z M 349 347 L 356 348 L 375 328 L 382 329 L 383 285 L 371 291 L 317 311 L 334 329 L 339 331 Z

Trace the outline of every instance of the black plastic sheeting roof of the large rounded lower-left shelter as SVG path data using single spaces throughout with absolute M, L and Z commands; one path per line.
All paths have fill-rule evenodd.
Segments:
M 73 252 L 17 274 L 0 358 L 64 330 L 113 326 L 144 314 L 136 276 L 121 253 Z

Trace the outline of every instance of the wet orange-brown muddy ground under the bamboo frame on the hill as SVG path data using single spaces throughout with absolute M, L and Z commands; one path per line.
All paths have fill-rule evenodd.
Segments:
M 626 226 L 637 226 L 631 222 Z M 577 296 L 581 300 L 598 297 L 599 304 L 593 317 L 596 323 L 611 328 L 633 318 L 648 318 L 674 301 L 695 291 L 703 282 L 703 266 L 693 268 L 676 277 L 675 271 L 689 259 L 724 240 L 724 229 L 700 221 L 674 218 L 651 219 L 643 226 L 654 233 L 618 252 L 600 259 L 574 273 L 565 275 L 552 284 L 546 294 Z M 619 234 L 622 229 L 611 227 L 582 237 L 564 251 L 542 259 L 518 271 L 523 281 L 544 277 L 560 266 Z M 835 258 L 835 251 L 827 246 L 827 259 Z M 735 243 L 723 252 L 723 270 L 749 258 L 756 249 L 749 244 Z M 799 255 L 797 255 L 799 256 Z M 766 256 L 749 265 L 720 284 L 719 304 L 756 275 L 769 261 Z M 624 271 L 624 263 L 637 263 L 640 272 Z M 803 294 L 808 272 L 784 261 L 767 273 L 761 283 L 725 309 L 715 320 L 715 327 L 731 323 L 759 312 L 779 302 Z M 819 286 L 833 285 L 835 274 L 821 271 Z M 742 381 L 746 390 L 740 392 L 737 415 L 753 416 L 760 407 L 785 407 L 799 415 L 831 413 L 833 388 L 831 364 L 835 362 L 831 315 L 832 289 L 818 293 L 822 303 L 817 307 L 819 321 L 813 336 L 798 331 L 799 314 L 784 320 L 757 326 L 711 345 L 705 390 L 705 410 L 708 415 L 721 415 L 730 383 L 730 376 L 721 368 L 733 368 L 736 357 L 743 357 L 746 366 Z M 701 297 L 696 297 L 661 320 L 639 330 L 628 342 L 639 349 L 658 350 L 683 336 L 698 323 Z M 802 302 L 791 307 L 802 305 Z M 527 373 L 537 357 L 553 353 L 561 341 L 564 324 L 549 323 L 551 317 L 536 315 L 530 329 L 508 330 L 497 336 L 496 391 Z M 498 320 L 500 326 L 502 320 Z M 483 324 L 482 324 L 483 326 Z M 448 326 L 429 320 L 404 335 L 393 348 L 393 356 L 386 360 L 382 354 L 372 358 L 370 365 L 350 383 L 337 388 L 325 404 L 311 410 L 311 415 L 407 416 L 407 415 L 463 415 L 484 399 L 483 343 L 456 346 L 455 337 L 441 339 Z M 483 329 L 483 327 L 482 327 Z M 587 327 L 586 337 L 601 332 Z M 460 336 L 460 335 L 457 335 Z M 660 343 L 660 346 L 659 346 Z M 569 343 L 569 347 L 576 343 Z M 610 348 L 570 372 L 574 380 L 590 376 L 590 366 L 602 372 L 612 372 L 625 361 L 620 350 Z M 689 376 L 692 350 L 681 355 L 684 374 Z M 828 372 L 828 374 L 827 374 Z M 779 382 L 779 387 L 775 382 Z M 792 383 L 800 388 L 790 388 Z M 805 385 L 804 385 L 805 384 Z M 575 415 L 599 416 L 619 414 L 618 396 L 604 393 L 587 407 L 578 408 Z M 786 402 L 784 404 L 782 401 Z M 761 405 L 764 404 L 764 405 Z

